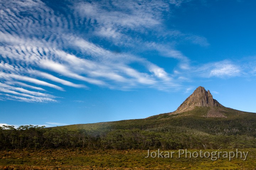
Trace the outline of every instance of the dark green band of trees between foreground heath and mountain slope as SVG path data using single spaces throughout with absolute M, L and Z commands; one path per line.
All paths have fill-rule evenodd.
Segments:
M 68 130 L 26 125 L 0 126 L 0 149 L 222 149 L 256 148 L 256 139 L 247 135 L 209 135 L 196 132 L 154 130 Z

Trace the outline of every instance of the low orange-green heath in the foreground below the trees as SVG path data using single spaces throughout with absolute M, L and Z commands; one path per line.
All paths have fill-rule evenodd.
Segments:
M 172 150 L 177 152 L 177 150 Z M 197 150 L 190 150 L 191 152 Z M 204 150 L 215 151 L 215 150 Z M 221 150 L 224 151 L 224 150 Z M 225 151 L 234 151 L 232 149 Z M 147 151 L 128 149 L 88 150 L 88 149 L 18 149 L 0 152 L 0 169 L 61 169 L 61 170 L 253 170 L 256 168 L 256 149 L 242 149 L 249 152 L 246 160 L 220 158 L 145 158 Z M 169 151 L 171 152 L 171 151 Z

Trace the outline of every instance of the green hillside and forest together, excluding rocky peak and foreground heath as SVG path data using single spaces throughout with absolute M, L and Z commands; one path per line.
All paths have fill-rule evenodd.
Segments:
M 220 149 L 256 148 L 256 114 L 224 108 L 226 118 L 204 117 L 207 107 L 181 114 L 44 128 L 0 128 L 0 149 Z M 186 115 L 186 116 L 184 116 Z

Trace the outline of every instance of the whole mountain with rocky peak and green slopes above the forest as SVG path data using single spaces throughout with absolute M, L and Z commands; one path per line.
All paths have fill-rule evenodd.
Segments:
M 140 129 L 146 131 L 196 132 L 213 135 L 256 136 L 256 114 L 224 107 L 210 91 L 199 86 L 176 111 L 145 119 L 120 120 L 94 124 L 58 126 L 69 130 L 113 131 Z

